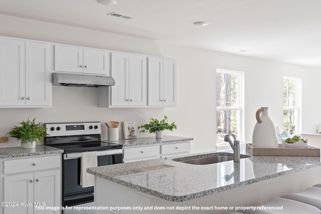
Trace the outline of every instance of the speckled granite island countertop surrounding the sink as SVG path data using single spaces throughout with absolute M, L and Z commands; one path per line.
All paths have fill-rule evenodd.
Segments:
M 243 154 L 245 152 L 242 152 Z M 196 157 L 227 152 L 203 153 Z M 247 153 L 249 154 L 249 153 Z M 187 159 L 185 155 L 182 160 Z M 186 201 L 296 171 L 321 166 L 318 156 L 251 156 L 208 165 L 175 157 L 88 168 L 87 172 L 169 201 Z M 157 179 L 162 176 L 162 179 Z

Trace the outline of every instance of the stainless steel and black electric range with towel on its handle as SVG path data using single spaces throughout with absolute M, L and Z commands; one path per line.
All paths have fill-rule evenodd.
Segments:
M 62 205 L 94 201 L 94 187 L 80 185 L 83 152 L 97 151 L 98 166 L 122 163 L 122 145 L 101 141 L 100 122 L 45 123 L 48 146 L 64 150 L 62 158 Z

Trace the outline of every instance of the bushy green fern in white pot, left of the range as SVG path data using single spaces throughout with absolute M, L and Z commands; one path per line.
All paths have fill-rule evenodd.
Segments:
M 21 146 L 23 148 L 34 148 L 37 140 L 43 142 L 43 138 L 46 136 L 47 128 L 41 126 L 40 123 L 36 123 L 33 120 L 22 121 L 21 126 L 15 126 L 7 134 L 9 137 L 15 137 L 17 140 L 21 140 Z

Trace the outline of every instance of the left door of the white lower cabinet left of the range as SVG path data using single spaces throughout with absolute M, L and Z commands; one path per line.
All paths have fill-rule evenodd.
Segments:
M 18 202 L 18 206 L 6 206 L 6 214 L 34 213 L 34 174 L 19 174 L 4 177 L 4 199 Z M 24 204 L 21 204 L 24 203 Z M 17 204 L 16 204 L 17 205 Z

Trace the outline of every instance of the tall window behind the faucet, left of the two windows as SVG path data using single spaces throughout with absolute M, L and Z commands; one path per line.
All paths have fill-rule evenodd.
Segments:
M 216 135 L 217 144 L 224 143 L 226 134 L 242 139 L 243 72 L 216 71 Z

